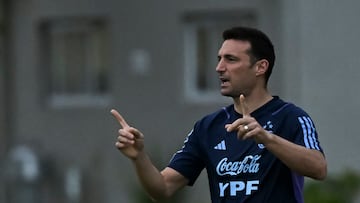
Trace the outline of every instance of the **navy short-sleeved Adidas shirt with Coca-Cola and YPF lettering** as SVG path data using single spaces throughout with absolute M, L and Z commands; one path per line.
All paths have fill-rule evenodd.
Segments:
M 274 96 L 251 116 L 265 130 L 323 153 L 313 121 L 294 104 Z M 303 203 L 303 176 L 264 145 L 226 132 L 225 124 L 241 117 L 229 105 L 196 122 L 168 166 L 185 176 L 189 185 L 206 168 L 213 203 Z

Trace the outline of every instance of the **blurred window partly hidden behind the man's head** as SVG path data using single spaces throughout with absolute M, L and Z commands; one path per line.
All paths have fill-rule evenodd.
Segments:
M 185 26 L 185 97 L 190 102 L 225 102 L 215 71 L 223 30 L 239 25 L 255 26 L 254 12 L 192 12 L 183 17 Z

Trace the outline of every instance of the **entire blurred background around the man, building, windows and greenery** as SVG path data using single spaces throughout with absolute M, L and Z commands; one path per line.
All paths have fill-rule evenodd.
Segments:
M 360 1 L 0 0 L 0 202 L 144 203 L 115 148 L 111 108 L 165 167 L 203 115 L 228 105 L 223 29 L 273 40 L 270 89 L 315 121 L 329 178 L 307 202 L 360 202 Z M 206 172 L 169 202 L 210 202 Z

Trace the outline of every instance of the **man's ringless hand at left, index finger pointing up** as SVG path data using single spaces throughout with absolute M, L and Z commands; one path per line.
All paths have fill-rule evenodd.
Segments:
M 129 126 L 118 111 L 112 109 L 110 112 L 121 126 L 115 146 L 128 158 L 137 159 L 144 150 L 144 135 L 138 129 Z

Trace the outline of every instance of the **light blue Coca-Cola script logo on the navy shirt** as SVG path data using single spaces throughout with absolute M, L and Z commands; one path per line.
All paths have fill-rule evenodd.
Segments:
M 242 161 L 228 161 L 228 158 L 223 158 L 216 166 L 218 175 L 232 175 L 236 176 L 240 173 L 257 173 L 259 172 L 260 163 L 258 160 L 261 155 L 248 155 Z

